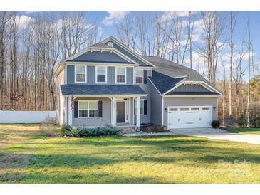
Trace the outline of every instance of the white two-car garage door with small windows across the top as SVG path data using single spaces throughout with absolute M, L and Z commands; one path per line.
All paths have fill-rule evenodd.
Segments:
M 212 106 L 169 106 L 168 129 L 211 127 Z

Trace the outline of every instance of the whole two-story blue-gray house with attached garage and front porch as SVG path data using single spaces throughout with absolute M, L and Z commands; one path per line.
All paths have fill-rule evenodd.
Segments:
M 197 71 L 140 56 L 113 37 L 56 68 L 58 122 L 73 126 L 210 127 L 221 93 Z

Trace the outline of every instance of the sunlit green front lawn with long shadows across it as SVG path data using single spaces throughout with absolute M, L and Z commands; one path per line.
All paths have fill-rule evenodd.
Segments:
M 259 145 L 184 136 L 46 137 L 48 131 L 0 125 L 0 182 L 260 182 Z

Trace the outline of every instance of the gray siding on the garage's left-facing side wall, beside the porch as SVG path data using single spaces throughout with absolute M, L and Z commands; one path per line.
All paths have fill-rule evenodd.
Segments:
M 162 97 L 152 85 L 150 80 L 147 80 L 147 85 L 150 88 L 150 122 L 155 125 L 162 125 Z

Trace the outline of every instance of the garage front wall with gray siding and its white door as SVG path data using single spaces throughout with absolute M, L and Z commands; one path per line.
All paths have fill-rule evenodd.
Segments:
M 211 127 L 217 119 L 216 97 L 166 97 L 164 104 L 164 125 L 168 129 Z

